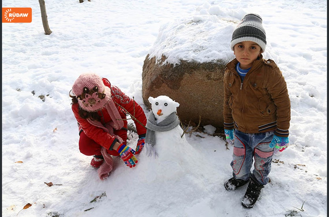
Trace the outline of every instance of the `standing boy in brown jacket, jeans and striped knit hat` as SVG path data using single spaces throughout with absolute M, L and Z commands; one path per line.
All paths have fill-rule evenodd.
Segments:
M 274 61 L 263 59 L 265 48 L 261 16 L 243 16 L 231 40 L 236 58 L 224 74 L 224 131 L 227 142 L 234 144 L 233 177 L 224 187 L 232 191 L 249 183 L 241 201 L 246 208 L 254 206 L 268 182 L 273 151 L 289 145 L 287 84 Z

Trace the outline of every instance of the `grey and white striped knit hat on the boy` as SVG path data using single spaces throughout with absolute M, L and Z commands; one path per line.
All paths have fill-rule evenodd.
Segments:
M 262 25 L 262 17 L 257 14 L 246 14 L 240 20 L 232 34 L 231 49 L 240 42 L 251 41 L 257 43 L 262 52 L 266 48 L 266 33 Z

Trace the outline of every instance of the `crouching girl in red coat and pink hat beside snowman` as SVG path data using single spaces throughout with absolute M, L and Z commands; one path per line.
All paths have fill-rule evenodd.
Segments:
M 120 155 L 127 166 L 135 167 L 138 162 L 135 154 L 142 150 L 146 134 L 143 109 L 108 79 L 92 73 L 80 75 L 72 93 L 72 111 L 79 126 L 79 149 L 85 155 L 93 155 L 90 165 L 99 168 L 100 178 L 106 178 L 112 170 L 111 155 Z M 128 114 L 139 135 L 136 151 L 126 145 Z

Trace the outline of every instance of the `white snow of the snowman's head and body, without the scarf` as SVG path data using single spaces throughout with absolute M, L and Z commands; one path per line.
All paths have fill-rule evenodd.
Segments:
M 171 113 L 176 112 L 176 108 L 179 106 L 179 103 L 167 96 L 149 97 L 148 100 L 152 105 L 152 112 L 157 124 L 165 120 Z M 155 140 L 156 155 L 148 156 L 146 160 L 150 167 L 149 171 L 153 172 L 155 176 L 171 179 L 188 174 L 190 170 L 194 171 L 197 151 L 186 140 L 180 125 L 169 131 L 155 131 Z

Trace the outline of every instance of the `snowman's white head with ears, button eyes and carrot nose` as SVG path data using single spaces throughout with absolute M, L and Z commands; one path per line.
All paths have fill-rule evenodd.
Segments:
M 166 119 L 172 112 L 176 112 L 176 108 L 179 107 L 179 103 L 168 96 L 158 96 L 156 98 L 150 96 L 148 101 L 151 103 L 152 112 L 157 119 L 157 123 Z

